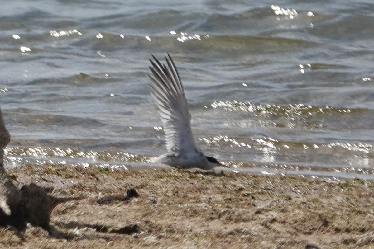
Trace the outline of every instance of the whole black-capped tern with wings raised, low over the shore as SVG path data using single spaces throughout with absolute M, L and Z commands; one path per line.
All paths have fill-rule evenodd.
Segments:
M 166 64 L 161 64 L 152 55 L 151 72 L 148 74 L 152 84 L 148 84 L 151 95 L 159 107 L 164 123 L 167 153 L 152 161 L 180 169 L 200 168 L 211 170 L 217 166 L 227 167 L 211 156 L 205 156 L 197 146 L 191 131 L 191 114 L 178 69 L 168 53 Z

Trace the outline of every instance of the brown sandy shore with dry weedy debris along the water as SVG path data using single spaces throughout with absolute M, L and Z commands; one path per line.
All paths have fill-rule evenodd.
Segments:
M 8 174 L 86 198 L 53 211 L 52 236 L 0 228 L 0 248 L 374 248 L 373 181 L 31 166 Z M 129 188 L 139 196 L 125 198 Z

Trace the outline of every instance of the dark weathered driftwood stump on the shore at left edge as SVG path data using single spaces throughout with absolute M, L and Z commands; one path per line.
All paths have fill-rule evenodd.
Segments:
M 67 196 L 58 188 L 37 186 L 34 183 L 18 189 L 6 174 L 3 164 L 4 148 L 9 141 L 10 135 L 0 109 L 0 225 L 12 225 L 18 230 L 24 230 L 30 223 L 51 231 L 53 228 L 49 223 L 52 210 L 59 203 L 82 198 Z

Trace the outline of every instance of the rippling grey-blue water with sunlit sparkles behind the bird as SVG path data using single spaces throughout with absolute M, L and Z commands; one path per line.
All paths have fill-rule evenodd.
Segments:
M 239 172 L 374 179 L 373 1 L 14 0 L 6 166 L 160 168 L 147 84 L 171 53 L 200 148 Z

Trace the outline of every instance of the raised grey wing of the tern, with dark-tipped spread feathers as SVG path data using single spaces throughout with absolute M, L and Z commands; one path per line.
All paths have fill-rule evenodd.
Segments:
M 197 146 L 191 131 L 191 115 L 184 95 L 184 88 L 174 61 L 169 55 L 165 57 L 167 66 L 161 64 L 156 57 L 150 60 L 149 68 L 153 73 L 151 78 L 151 94 L 160 108 L 161 120 L 166 134 L 166 149 L 168 152 L 187 153 L 196 150 Z

